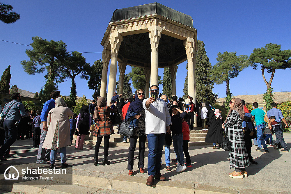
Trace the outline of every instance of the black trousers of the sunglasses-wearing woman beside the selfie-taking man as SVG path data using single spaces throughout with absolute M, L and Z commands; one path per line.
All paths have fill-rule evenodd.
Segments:
M 133 169 L 133 158 L 134 151 L 136 148 L 137 138 L 139 138 L 139 168 L 144 167 L 144 156 L 145 156 L 145 138 L 146 136 L 131 136 L 129 139 L 129 150 L 128 150 L 128 163 L 127 170 Z

